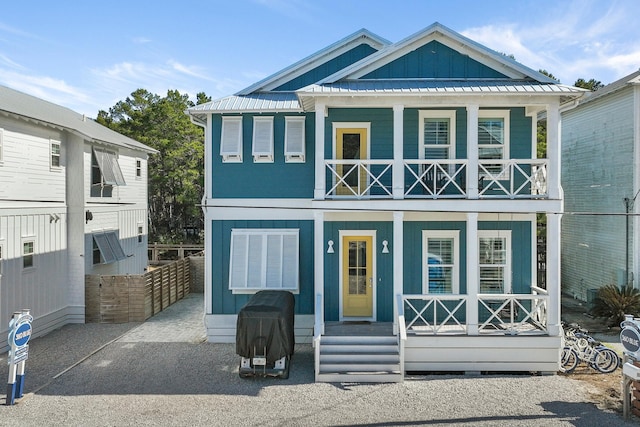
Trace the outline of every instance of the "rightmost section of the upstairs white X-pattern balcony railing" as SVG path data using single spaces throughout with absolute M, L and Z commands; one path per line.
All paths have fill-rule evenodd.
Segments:
M 480 198 L 545 198 L 546 159 L 480 160 Z

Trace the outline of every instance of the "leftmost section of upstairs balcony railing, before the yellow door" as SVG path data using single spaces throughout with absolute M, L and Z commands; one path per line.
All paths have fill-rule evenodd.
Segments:
M 393 160 L 325 160 L 326 198 L 391 198 Z

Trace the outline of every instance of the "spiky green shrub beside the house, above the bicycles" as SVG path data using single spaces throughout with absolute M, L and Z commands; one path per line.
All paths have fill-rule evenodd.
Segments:
M 640 291 L 633 286 L 606 285 L 598 289 L 591 314 L 607 319 L 608 326 L 619 326 L 625 314 L 640 312 Z

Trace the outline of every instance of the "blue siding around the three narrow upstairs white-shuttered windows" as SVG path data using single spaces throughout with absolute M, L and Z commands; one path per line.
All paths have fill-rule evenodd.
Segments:
M 252 150 L 253 117 L 245 114 L 242 119 L 242 163 L 222 163 L 220 138 L 222 117 L 212 117 L 212 192 L 214 198 L 313 198 L 315 159 L 315 119 L 306 114 L 306 161 L 285 163 L 285 116 L 295 114 L 271 114 L 274 117 L 274 162 L 254 163 Z M 295 177 L 295 179 L 292 179 Z

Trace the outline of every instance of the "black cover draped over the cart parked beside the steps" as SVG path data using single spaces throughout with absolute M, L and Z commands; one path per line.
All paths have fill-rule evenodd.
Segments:
M 293 354 L 295 299 L 288 291 L 260 291 L 240 309 L 236 324 L 236 353 L 253 358 L 263 356 L 267 363 Z M 255 349 L 255 353 L 254 353 Z

